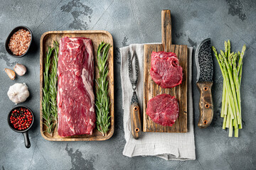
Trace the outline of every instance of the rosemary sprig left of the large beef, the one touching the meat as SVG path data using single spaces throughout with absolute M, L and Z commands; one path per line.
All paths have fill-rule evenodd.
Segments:
M 50 111 L 53 117 L 53 129 L 58 122 L 58 108 L 57 108 L 57 67 L 58 67 L 58 52 L 59 45 L 57 41 L 53 41 L 54 55 L 50 69 Z

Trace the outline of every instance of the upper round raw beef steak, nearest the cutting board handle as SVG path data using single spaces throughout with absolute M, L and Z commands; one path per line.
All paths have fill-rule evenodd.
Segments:
M 174 52 L 152 52 L 150 75 L 161 88 L 172 88 L 181 84 L 183 72 Z

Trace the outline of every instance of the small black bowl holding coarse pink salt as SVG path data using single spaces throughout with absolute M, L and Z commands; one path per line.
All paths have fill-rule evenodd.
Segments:
M 9 42 L 10 42 L 11 36 L 14 35 L 14 33 L 16 33 L 16 31 L 18 31 L 20 29 L 28 30 L 29 33 L 31 33 L 31 42 L 32 42 L 32 39 L 33 39 L 32 31 L 26 26 L 18 26 L 16 28 L 14 28 L 13 30 L 11 30 L 11 33 L 6 38 L 5 48 L 6 48 L 6 52 L 8 52 L 9 55 L 11 55 L 12 57 L 15 57 L 15 58 L 21 58 L 24 55 L 26 55 L 28 53 L 29 48 L 31 47 L 31 42 L 29 42 L 28 49 L 26 50 L 26 52 L 23 55 L 14 55 L 14 53 L 11 52 L 11 50 L 9 49 Z

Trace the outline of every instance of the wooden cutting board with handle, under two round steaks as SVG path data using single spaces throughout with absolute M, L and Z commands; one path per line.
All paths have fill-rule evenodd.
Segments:
M 143 131 L 144 132 L 187 132 L 187 90 L 188 90 L 188 47 L 171 44 L 171 11 L 161 11 L 162 44 L 144 45 L 144 102 L 143 102 Z M 182 84 L 171 89 L 162 89 L 150 76 L 152 51 L 175 52 L 179 64 L 183 68 Z M 159 94 L 175 96 L 179 104 L 179 115 L 172 127 L 154 123 L 146 115 L 147 102 Z

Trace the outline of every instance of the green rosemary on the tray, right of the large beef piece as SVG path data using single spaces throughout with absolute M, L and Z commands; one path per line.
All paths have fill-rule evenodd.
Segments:
M 102 135 L 107 135 L 110 129 L 110 98 L 108 96 L 108 81 L 107 73 L 109 72 L 107 57 L 110 50 L 110 44 L 101 42 L 97 49 L 97 67 L 100 77 L 96 80 L 96 113 L 97 113 L 97 130 L 102 132 Z

